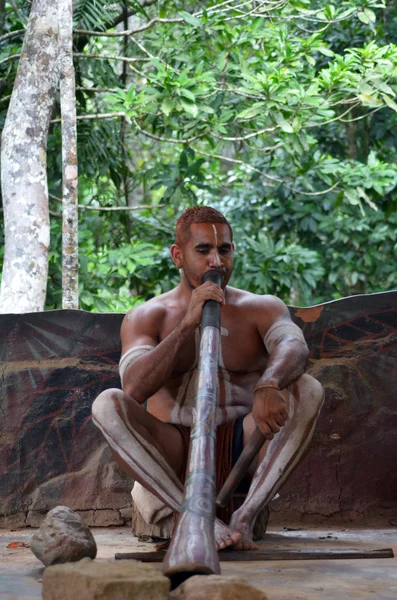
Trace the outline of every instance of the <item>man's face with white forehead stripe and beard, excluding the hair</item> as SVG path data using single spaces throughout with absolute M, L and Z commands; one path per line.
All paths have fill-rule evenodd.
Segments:
M 193 223 L 190 235 L 175 245 L 173 258 L 191 288 L 203 283 L 204 273 L 215 270 L 222 274 L 225 288 L 233 271 L 234 244 L 225 223 Z

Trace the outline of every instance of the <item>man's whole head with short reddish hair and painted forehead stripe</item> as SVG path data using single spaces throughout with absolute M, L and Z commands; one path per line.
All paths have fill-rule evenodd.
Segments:
M 171 255 L 190 288 L 201 285 L 204 273 L 210 270 L 222 274 L 225 287 L 233 270 L 233 251 L 232 228 L 214 208 L 195 206 L 179 217 Z

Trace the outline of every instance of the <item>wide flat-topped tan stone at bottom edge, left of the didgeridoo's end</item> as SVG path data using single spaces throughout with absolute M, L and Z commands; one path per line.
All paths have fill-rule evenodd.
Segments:
M 137 560 L 55 565 L 44 571 L 43 600 L 168 600 L 170 581 Z

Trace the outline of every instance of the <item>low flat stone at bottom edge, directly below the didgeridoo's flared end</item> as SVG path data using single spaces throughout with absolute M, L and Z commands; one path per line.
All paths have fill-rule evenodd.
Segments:
M 241 577 L 195 575 L 171 592 L 170 600 L 267 600 Z

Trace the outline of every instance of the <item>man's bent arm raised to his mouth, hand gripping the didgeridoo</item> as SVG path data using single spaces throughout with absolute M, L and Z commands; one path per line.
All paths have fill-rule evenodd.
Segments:
M 159 331 L 166 316 L 166 308 L 145 304 L 132 309 L 121 326 L 122 356 L 135 346 L 149 345 L 153 349 L 143 353 L 123 374 L 123 390 L 142 403 L 155 394 L 170 378 L 184 344 L 200 325 L 206 300 L 223 303 L 221 288 L 207 282 L 193 290 L 190 304 L 178 326 L 159 342 Z

